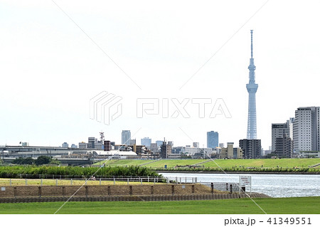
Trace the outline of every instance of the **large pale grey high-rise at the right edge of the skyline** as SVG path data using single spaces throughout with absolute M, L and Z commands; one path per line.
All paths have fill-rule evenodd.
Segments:
M 299 107 L 295 112 L 294 152 L 320 150 L 320 107 Z

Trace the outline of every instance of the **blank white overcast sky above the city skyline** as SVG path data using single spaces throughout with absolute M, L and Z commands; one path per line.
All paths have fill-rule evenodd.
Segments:
M 219 142 L 238 146 L 247 134 L 253 29 L 257 137 L 267 149 L 272 122 L 320 105 L 320 3 L 265 3 L 1 1 L 0 144 L 78 144 L 101 130 L 120 143 L 122 130 L 131 130 L 138 142 L 166 137 L 175 146 L 206 147 L 213 130 Z M 102 91 L 123 98 L 122 115 L 110 125 L 90 119 L 89 101 Z M 190 118 L 137 118 L 137 98 L 168 98 L 169 115 L 171 99 L 222 98 L 232 117 L 209 118 L 211 104 L 199 118 L 190 100 Z

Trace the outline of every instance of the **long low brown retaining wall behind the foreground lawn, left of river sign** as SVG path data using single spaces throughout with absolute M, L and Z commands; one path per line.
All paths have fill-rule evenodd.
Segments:
M 0 198 L 70 197 L 74 196 L 132 196 L 210 194 L 210 188 L 201 184 L 151 184 L 110 186 L 1 186 Z

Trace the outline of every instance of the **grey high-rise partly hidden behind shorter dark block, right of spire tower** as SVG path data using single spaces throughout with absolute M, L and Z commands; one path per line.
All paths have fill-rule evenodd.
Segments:
M 291 117 L 287 120 L 286 123 L 272 123 L 271 125 L 271 137 L 272 137 L 272 152 L 275 151 L 275 144 L 277 138 L 283 137 L 285 134 L 286 137 L 293 139 L 293 122 L 294 117 Z

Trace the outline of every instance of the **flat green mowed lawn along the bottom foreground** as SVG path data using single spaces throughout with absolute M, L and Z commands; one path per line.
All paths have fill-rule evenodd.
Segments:
M 319 214 L 320 197 L 255 199 L 268 214 Z M 55 213 L 63 202 L 0 204 L 0 213 Z M 202 201 L 68 202 L 68 214 L 262 214 L 251 199 Z

